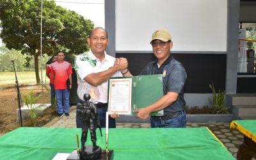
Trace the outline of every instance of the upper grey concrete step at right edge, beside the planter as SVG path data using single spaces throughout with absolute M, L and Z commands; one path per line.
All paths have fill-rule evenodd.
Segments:
M 227 95 L 227 105 L 255 105 L 256 106 L 256 94 L 237 93 Z

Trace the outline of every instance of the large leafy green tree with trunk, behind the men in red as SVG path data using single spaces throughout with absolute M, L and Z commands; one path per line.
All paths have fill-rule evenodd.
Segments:
M 40 56 L 41 1 L 1 0 L 0 37 L 8 49 L 30 54 L 35 61 L 36 83 L 40 83 L 38 56 Z M 86 44 L 93 22 L 76 12 L 56 6 L 54 0 L 43 0 L 42 54 L 56 51 L 81 53 L 88 51 Z

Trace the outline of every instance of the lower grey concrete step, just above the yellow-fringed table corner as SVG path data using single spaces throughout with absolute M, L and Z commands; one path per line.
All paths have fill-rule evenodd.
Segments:
M 230 108 L 230 113 L 237 117 L 256 116 L 256 105 L 236 105 Z

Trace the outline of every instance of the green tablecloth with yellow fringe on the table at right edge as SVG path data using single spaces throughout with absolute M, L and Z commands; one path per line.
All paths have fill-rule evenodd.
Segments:
M 256 120 L 233 120 L 230 128 L 235 128 L 256 142 Z

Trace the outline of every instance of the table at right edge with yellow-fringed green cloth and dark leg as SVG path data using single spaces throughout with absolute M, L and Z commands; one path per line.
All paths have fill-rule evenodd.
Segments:
M 256 120 L 234 120 L 230 128 L 244 134 L 243 144 L 239 146 L 237 159 L 256 159 Z

